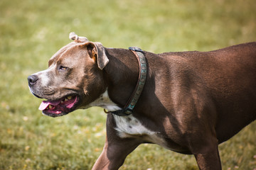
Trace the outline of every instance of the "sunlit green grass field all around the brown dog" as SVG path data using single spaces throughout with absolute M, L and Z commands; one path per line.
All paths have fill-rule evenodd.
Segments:
M 100 108 L 41 115 L 26 77 L 75 31 L 105 47 L 215 50 L 256 40 L 254 0 L 0 1 L 0 169 L 91 169 L 105 141 Z M 220 145 L 223 169 L 256 169 L 256 123 Z M 193 156 L 141 145 L 124 169 L 197 169 Z

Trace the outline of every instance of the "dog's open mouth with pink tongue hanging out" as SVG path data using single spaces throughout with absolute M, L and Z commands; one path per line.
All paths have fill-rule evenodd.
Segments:
M 78 101 L 78 95 L 69 95 L 54 101 L 43 101 L 38 109 L 45 115 L 58 117 L 75 111 Z

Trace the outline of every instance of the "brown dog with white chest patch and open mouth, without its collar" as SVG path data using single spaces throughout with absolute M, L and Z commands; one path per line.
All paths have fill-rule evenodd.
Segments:
M 137 84 L 131 50 L 75 41 L 28 77 L 52 117 L 79 108 L 124 107 Z M 256 42 L 210 52 L 144 52 L 147 77 L 131 115 L 107 115 L 107 140 L 93 169 L 119 169 L 142 143 L 194 154 L 200 169 L 221 169 L 218 144 L 256 119 Z

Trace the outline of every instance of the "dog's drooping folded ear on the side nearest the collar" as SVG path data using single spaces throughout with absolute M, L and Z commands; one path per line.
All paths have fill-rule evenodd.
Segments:
M 93 60 L 97 60 L 97 65 L 100 69 L 104 69 L 110 61 L 105 53 L 105 48 L 100 42 L 87 42 L 87 51 Z

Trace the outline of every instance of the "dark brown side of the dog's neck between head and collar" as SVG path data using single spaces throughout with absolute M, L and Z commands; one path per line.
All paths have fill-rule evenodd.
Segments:
M 105 67 L 105 77 L 110 99 L 121 108 L 129 100 L 139 77 L 137 58 L 130 50 L 108 49 L 110 62 Z

